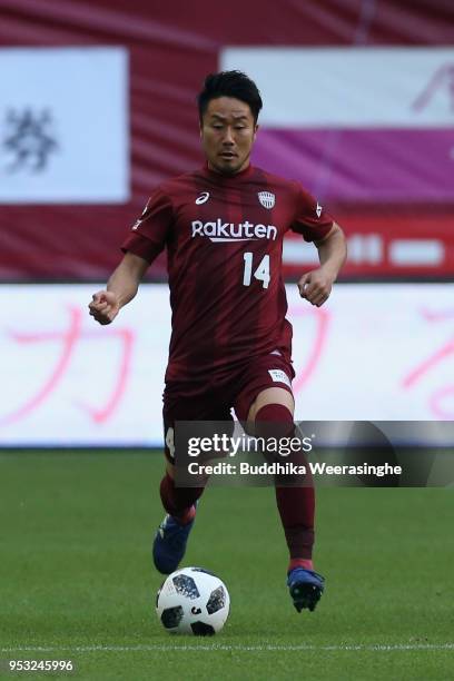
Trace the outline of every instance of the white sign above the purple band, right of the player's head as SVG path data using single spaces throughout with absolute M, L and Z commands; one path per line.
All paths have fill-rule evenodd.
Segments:
M 453 48 L 226 48 L 273 128 L 450 128 Z

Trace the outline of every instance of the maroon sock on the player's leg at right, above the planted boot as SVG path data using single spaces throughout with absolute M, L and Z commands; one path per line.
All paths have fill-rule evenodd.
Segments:
M 270 422 L 278 436 L 294 434 L 294 422 L 290 412 L 280 404 L 268 404 L 261 407 L 256 415 L 256 425 L 260 431 L 260 424 L 267 426 L 266 433 L 269 436 Z M 280 463 L 285 458 L 279 457 Z M 307 465 L 302 452 L 296 457 L 288 456 L 287 461 Z M 287 541 L 290 561 L 310 561 L 314 545 L 314 514 L 315 514 L 315 493 L 310 473 L 295 480 L 295 476 L 277 475 L 275 477 L 276 502 L 283 523 L 285 539 Z M 290 563 L 296 565 L 296 563 Z

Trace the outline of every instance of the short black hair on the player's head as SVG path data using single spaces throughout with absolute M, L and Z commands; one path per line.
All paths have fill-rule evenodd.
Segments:
M 249 105 L 254 122 L 257 122 L 258 114 L 263 107 L 260 92 L 254 80 L 250 80 L 243 71 L 220 71 L 219 73 L 209 73 L 206 77 L 204 89 L 197 96 L 200 122 L 208 102 L 218 97 L 235 97 L 235 99 Z

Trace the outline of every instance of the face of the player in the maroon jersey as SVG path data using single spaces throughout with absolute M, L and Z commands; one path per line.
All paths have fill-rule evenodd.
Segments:
M 247 168 L 257 129 L 246 102 L 234 97 L 211 99 L 200 126 L 208 167 L 223 175 Z

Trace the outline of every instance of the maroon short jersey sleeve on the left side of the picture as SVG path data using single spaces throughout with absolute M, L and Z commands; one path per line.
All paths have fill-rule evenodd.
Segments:
M 164 249 L 174 220 L 171 201 L 161 189 L 156 189 L 148 199 L 141 216 L 121 244 L 124 253 L 130 251 L 148 263 Z

